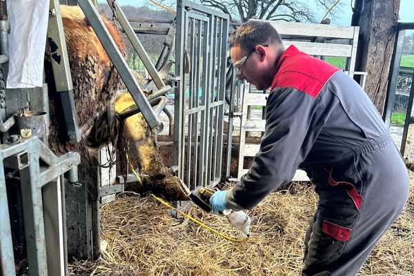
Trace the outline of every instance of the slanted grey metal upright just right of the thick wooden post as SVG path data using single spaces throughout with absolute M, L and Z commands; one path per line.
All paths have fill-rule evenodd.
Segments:
M 393 106 L 395 101 L 395 90 L 397 90 L 398 73 L 400 72 L 400 63 L 402 56 L 402 48 L 404 43 L 405 30 L 400 30 L 395 35 L 395 43 L 393 50 L 393 66 L 390 68 L 390 74 L 388 75 L 388 87 L 386 89 L 386 99 L 384 106 L 384 119 L 386 128 L 390 128 L 391 115 L 393 115 Z

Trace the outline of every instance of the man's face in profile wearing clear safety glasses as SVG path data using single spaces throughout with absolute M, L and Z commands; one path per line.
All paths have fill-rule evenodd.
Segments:
M 248 83 L 256 86 L 257 90 L 264 90 L 270 86 L 266 80 L 266 55 L 263 55 L 266 47 L 258 45 L 248 51 L 240 46 L 230 49 L 230 57 L 239 79 L 246 79 Z

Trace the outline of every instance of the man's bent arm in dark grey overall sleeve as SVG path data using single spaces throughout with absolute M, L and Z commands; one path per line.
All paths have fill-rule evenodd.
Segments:
M 260 150 L 250 170 L 228 190 L 228 208 L 253 208 L 266 195 L 293 179 L 325 121 L 319 99 L 295 88 L 275 89 L 268 97 Z

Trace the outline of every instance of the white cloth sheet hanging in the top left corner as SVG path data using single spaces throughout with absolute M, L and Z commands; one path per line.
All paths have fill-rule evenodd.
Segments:
M 43 84 L 49 1 L 7 1 L 10 20 L 7 88 L 33 88 Z

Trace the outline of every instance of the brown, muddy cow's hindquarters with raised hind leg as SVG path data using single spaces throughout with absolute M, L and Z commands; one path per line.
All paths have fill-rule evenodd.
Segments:
M 117 147 L 119 168 L 126 168 L 125 156 L 129 153 L 135 166 L 139 166 L 140 172 L 148 175 L 143 178 L 144 190 L 150 190 L 166 199 L 182 199 L 182 195 L 175 195 L 177 194 L 174 192 L 175 188 L 172 188 L 172 191 L 168 190 L 168 187 L 174 185 L 179 188 L 181 182 L 172 177 L 164 166 L 155 147 L 152 132 L 141 115 L 128 118 L 125 122 L 117 121 L 116 124 L 111 124 L 115 127 L 108 128 L 106 109 L 110 104 L 115 103 L 117 91 L 123 86 L 121 79 L 81 9 L 77 6 L 61 6 L 61 14 L 75 108 L 83 136 L 79 144 L 72 145 L 67 141 L 62 106 L 52 77 L 50 55 L 46 55 L 46 79 L 50 97 L 50 148 L 56 155 L 62 155 L 70 150 L 79 152 L 81 155 L 81 164 L 78 167 L 79 181 L 88 182 L 93 186 L 97 182 L 96 152 L 99 147 L 112 142 Z M 108 19 L 103 18 L 103 22 L 119 50 L 125 55 L 126 47 L 119 30 Z M 126 95 L 122 98 L 124 106 L 131 106 L 132 98 L 128 98 L 130 97 L 128 92 Z M 121 107 L 118 105 L 117 108 Z M 97 137 L 99 139 L 96 139 Z M 119 137 L 122 139 L 118 139 Z M 119 173 L 125 172 L 126 170 L 119 171 Z M 97 189 L 92 188 L 92 190 Z

